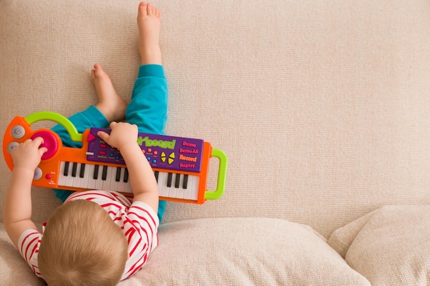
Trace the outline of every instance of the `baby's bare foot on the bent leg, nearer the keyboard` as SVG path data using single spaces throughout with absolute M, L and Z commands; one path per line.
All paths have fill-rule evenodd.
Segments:
M 100 64 L 94 64 L 91 79 L 97 92 L 98 104 L 95 107 L 103 113 L 107 121 L 122 121 L 125 119 L 127 104 L 113 88 L 111 78 L 103 71 Z

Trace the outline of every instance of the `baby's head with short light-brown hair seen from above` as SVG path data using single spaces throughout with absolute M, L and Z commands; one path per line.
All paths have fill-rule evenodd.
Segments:
M 58 207 L 49 217 L 38 253 L 48 285 L 117 285 L 128 243 L 104 209 L 87 200 Z

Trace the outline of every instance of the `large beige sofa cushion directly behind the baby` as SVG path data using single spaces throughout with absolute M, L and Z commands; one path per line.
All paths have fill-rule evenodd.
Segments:
M 0 231 L 1 281 L 43 285 Z M 130 285 L 370 285 L 325 239 L 282 219 L 218 218 L 159 227 L 160 244 Z

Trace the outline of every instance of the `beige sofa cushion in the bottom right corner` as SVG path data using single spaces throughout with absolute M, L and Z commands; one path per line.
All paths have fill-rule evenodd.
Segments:
M 430 285 L 430 205 L 383 206 L 328 240 L 374 286 Z

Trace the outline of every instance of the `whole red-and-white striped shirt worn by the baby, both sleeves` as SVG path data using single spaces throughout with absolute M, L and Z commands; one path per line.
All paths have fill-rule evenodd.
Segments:
M 132 202 L 133 198 L 114 191 L 80 191 L 70 195 L 65 201 L 89 200 L 95 202 L 109 213 L 109 216 L 122 228 L 128 241 L 128 259 L 121 280 L 135 274 L 142 268 L 148 255 L 158 245 L 157 213 L 144 202 Z M 34 228 L 27 229 L 19 238 L 19 252 L 32 268 L 36 276 L 43 278 L 38 270 L 37 255 L 43 234 Z

